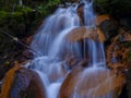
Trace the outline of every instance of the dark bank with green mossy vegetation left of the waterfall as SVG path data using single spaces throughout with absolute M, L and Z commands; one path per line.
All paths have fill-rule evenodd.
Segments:
M 0 64 L 12 62 L 23 47 L 4 35 L 2 30 L 20 40 L 33 35 L 44 17 L 52 13 L 60 0 L 0 0 Z M 0 65 L 1 66 L 1 65 Z

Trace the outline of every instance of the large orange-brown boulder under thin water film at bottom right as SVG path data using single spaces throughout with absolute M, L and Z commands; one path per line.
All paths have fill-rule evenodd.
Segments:
M 118 98 L 124 85 L 121 74 L 105 69 L 75 69 L 64 79 L 60 98 Z

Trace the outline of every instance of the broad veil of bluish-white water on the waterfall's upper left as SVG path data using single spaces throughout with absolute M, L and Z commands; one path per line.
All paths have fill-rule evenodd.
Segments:
M 53 39 L 61 34 L 61 32 L 79 25 L 79 16 L 71 12 L 71 8 L 59 8 L 55 14 L 44 22 L 31 47 L 35 51 L 38 51 L 40 56 L 47 56 L 48 50 L 52 46 Z

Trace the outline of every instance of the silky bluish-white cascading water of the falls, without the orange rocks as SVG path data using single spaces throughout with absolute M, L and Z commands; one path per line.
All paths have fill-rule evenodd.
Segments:
M 93 13 L 92 7 L 93 2 L 81 0 L 81 3 L 83 3 L 84 5 L 84 26 L 86 28 L 95 28 L 95 15 Z M 90 57 L 91 61 L 87 64 L 92 65 L 93 69 L 85 69 L 85 71 L 82 73 L 82 76 L 80 77 L 81 79 L 78 81 L 78 87 L 82 84 L 82 82 L 86 77 L 86 74 L 98 74 L 98 72 L 104 71 L 103 68 L 100 68 L 99 70 L 99 66 L 105 65 L 105 53 L 102 42 L 93 39 L 84 39 L 84 44 L 82 47 L 82 45 L 79 42 L 70 44 L 66 38 L 72 29 L 81 26 L 80 17 L 76 14 L 78 7 L 79 3 L 75 3 L 75 5 L 71 5 L 69 8 L 59 8 L 51 16 L 49 16 L 44 22 L 31 45 L 31 47 L 35 51 L 40 53 L 33 61 L 32 69 L 39 74 L 46 89 L 47 98 L 58 98 L 59 88 L 68 73 L 71 71 L 67 69 L 68 65 L 64 64 L 66 60 L 61 58 L 61 53 L 66 52 L 64 48 L 68 49 L 70 56 L 75 53 L 75 56 L 79 57 L 80 60 L 82 60 L 86 56 Z M 66 54 L 68 54 L 68 52 Z M 92 97 L 82 97 L 74 90 L 71 98 Z

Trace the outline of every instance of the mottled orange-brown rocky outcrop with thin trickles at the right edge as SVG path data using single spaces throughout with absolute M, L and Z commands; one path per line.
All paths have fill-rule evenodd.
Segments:
M 129 30 L 130 32 L 130 30 Z M 131 35 L 124 29 L 119 29 L 110 46 L 106 50 L 107 65 L 117 71 L 124 71 L 130 68 L 130 41 Z

